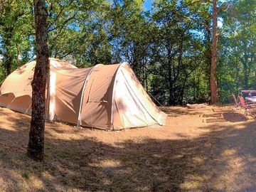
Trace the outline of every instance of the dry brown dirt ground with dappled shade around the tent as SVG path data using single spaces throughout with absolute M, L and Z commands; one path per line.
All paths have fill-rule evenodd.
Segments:
M 122 132 L 47 123 L 46 159 L 35 162 L 30 117 L 0 108 L 0 191 L 256 191 L 255 119 L 163 110 L 166 126 Z M 206 123 L 216 113 L 225 122 Z

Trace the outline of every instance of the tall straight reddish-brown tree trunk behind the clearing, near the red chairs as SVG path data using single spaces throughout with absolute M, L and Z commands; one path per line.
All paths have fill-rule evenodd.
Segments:
M 212 40 L 212 56 L 210 63 L 210 102 L 215 105 L 217 103 L 217 82 L 216 82 L 216 68 L 217 68 L 217 45 L 218 45 L 218 33 L 217 33 L 217 19 L 218 9 L 217 0 L 213 0 L 213 40 Z

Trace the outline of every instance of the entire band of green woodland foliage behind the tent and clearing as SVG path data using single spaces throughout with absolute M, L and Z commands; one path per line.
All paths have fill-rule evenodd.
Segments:
M 0 0 L 0 78 L 34 59 L 31 1 Z M 162 105 L 210 100 L 211 2 L 50 0 L 50 56 L 80 68 L 128 61 Z M 256 89 L 256 1 L 225 1 L 219 13 L 218 95 Z M 10 32 L 11 31 L 11 32 Z

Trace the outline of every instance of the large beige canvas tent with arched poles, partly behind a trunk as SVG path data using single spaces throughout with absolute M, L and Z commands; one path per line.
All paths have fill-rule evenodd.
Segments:
M 36 62 L 11 73 L 0 88 L 0 106 L 31 114 L 31 80 Z M 46 119 L 83 127 L 124 129 L 164 124 L 161 112 L 129 65 L 75 68 L 50 58 L 46 89 Z

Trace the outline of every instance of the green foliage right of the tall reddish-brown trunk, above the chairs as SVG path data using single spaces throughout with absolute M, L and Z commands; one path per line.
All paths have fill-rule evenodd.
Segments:
M 218 81 L 220 101 L 228 102 L 231 92 L 256 89 L 256 1 L 234 1 L 222 16 Z

